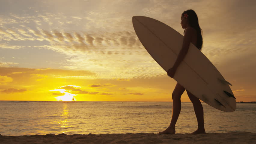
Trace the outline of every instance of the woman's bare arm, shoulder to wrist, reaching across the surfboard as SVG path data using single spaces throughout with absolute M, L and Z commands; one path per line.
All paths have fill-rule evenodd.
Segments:
M 175 70 L 178 68 L 179 64 L 181 63 L 181 61 L 184 59 L 185 55 L 187 54 L 190 42 L 192 41 L 192 35 L 193 35 L 193 29 L 187 28 L 184 33 L 181 51 L 179 52 L 176 62 L 173 65 L 173 68 Z

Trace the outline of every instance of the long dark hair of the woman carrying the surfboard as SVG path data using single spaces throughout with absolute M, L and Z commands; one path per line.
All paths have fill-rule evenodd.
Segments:
M 187 13 L 187 15 L 188 15 L 187 18 L 188 18 L 189 26 L 191 26 L 197 30 L 197 48 L 199 50 L 202 50 L 202 46 L 203 46 L 203 37 L 202 37 L 202 33 L 201 33 L 202 29 L 199 26 L 197 14 L 194 10 L 191 10 L 191 9 L 184 11 L 181 15 L 184 16 L 185 13 Z M 185 33 L 185 30 L 184 30 L 183 34 L 184 33 Z

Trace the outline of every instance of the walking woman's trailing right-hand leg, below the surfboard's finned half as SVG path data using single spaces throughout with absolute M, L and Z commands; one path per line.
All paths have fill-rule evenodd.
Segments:
M 192 134 L 205 134 L 204 121 L 203 121 L 203 106 L 199 98 L 191 94 L 189 91 L 187 91 L 187 95 L 193 104 L 194 111 L 197 117 L 197 124 L 198 124 L 198 129 L 194 131 Z

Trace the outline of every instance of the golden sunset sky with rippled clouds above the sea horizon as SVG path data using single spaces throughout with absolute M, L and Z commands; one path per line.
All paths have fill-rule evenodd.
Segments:
M 187 9 L 236 101 L 256 101 L 254 0 L 0 0 L 0 100 L 172 101 L 177 82 L 142 46 L 132 16 L 183 34 Z

